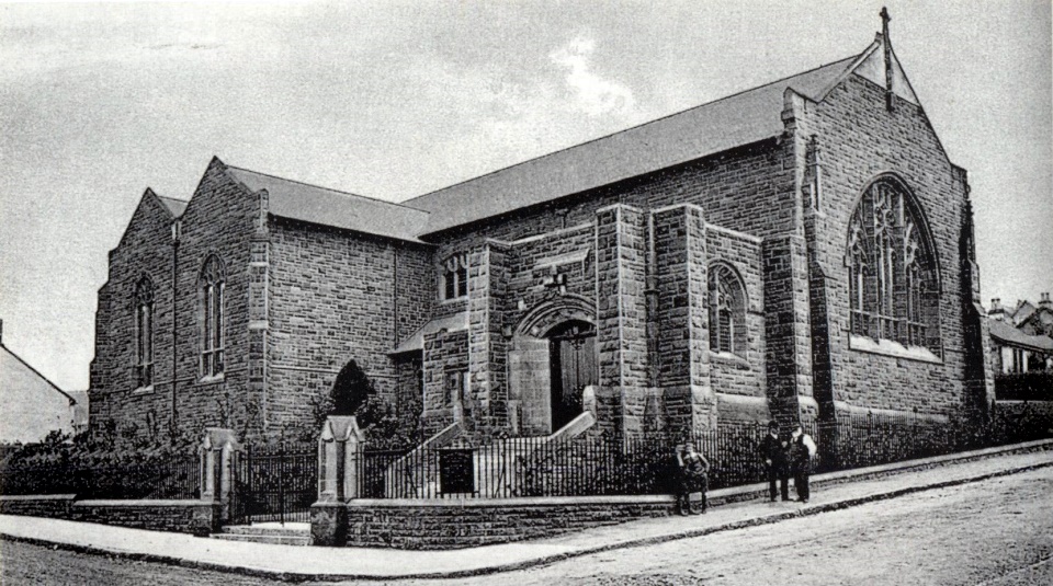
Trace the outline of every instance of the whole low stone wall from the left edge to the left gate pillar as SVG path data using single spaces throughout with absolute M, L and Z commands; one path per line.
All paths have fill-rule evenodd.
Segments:
M 218 531 L 220 514 L 219 503 L 210 501 L 77 501 L 72 494 L 0 496 L 0 515 L 100 522 L 195 536 Z

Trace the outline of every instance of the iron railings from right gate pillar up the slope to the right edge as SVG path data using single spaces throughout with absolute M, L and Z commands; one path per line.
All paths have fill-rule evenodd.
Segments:
M 884 464 L 953 451 L 1053 437 L 1042 412 L 997 412 L 981 441 L 961 426 L 912 413 L 852 413 L 837 422 L 809 424 L 819 446 L 812 466 L 834 471 Z M 761 423 L 722 422 L 690 439 L 711 464 L 710 489 L 762 482 L 766 471 Z M 497 438 L 440 448 L 373 450 L 352 466 L 364 498 L 508 498 L 669 494 L 677 490 L 676 449 L 682 438 L 660 434 L 616 438 Z

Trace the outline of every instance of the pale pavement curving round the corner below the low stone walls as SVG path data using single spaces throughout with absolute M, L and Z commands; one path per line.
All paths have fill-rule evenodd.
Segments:
M 1045 467 L 1053 467 L 1053 440 L 816 474 L 807 504 L 769 503 L 766 497 L 734 502 L 763 490 L 752 485 L 711 491 L 711 502 L 717 505 L 705 515 L 641 519 L 548 539 L 445 551 L 273 545 L 10 515 L 0 515 L 0 538 L 287 582 L 449 578 L 779 522 Z

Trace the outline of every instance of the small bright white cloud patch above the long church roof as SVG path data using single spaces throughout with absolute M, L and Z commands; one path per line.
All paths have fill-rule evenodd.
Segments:
M 548 58 L 566 70 L 567 88 L 574 93 L 577 106 L 589 116 L 602 114 L 629 114 L 636 101 L 627 87 L 601 78 L 590 70 L 589 59 L 596 50 L 596 42 L 576 37 L 553 51 Z

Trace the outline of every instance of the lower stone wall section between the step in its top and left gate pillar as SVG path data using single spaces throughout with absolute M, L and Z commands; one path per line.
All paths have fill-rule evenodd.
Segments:
M 205 501 L 80 501 L 75 521 L 207 536 L 219 530 L 219 503 Z

